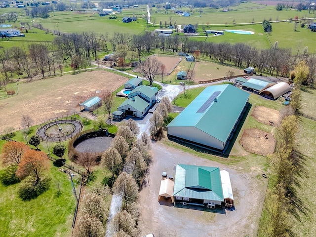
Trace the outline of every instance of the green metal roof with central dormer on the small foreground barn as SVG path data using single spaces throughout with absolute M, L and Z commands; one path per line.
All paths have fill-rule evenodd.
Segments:
M 219 168 L 177 164 L 173 196 L 224 201 Z

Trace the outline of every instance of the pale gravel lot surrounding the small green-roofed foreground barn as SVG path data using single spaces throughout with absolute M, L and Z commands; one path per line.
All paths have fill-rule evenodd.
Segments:
M 198 158 L 161 143 L 153 144 L 153 163 L 149 184 L 140 192 L 141 218 L 139 227 L 143 236 L 157 237 L 244 237 L 256 236 L 259 227 L 267 179 L 258 171 L 243 173 L 242 168 L 225 166 Z M 160 205 L 159 185 L 162 171 L 174 175 L 176 163 L 220 167 L 230 173 L 236 211 L 226 214 Z M 259 178 L 256 178 L 258 175 Z

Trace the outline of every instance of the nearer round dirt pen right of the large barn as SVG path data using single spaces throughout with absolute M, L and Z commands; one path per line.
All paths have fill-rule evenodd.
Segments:
M 270 133 L 249 128 L 243 131 L 240 144 L 247 152 L 266 156 L 274 152 L 276 139 Z

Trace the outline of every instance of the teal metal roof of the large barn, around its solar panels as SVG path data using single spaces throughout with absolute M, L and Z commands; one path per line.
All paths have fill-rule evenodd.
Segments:
M 219 91 L 204 112 L 197 113 L 201 106 Z M 231 84 L 207 86 L 168 127 L 196 127 L 197 129 L 226 142 L 249 98 L 249 93 Z

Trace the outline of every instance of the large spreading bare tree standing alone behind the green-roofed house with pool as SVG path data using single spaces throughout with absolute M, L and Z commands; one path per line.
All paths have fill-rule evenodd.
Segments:
M 160 72 L 161 62 L 155 57 L 150 57 L 140 63 L 137 68 L 145 75 L 145 78 L 149 80 L 149 85 L 153 86 L 153 81 L 155 80 L 156 75 Z

